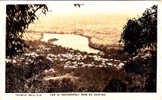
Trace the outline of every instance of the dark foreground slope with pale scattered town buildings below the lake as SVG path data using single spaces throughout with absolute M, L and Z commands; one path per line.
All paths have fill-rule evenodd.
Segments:
M 119 59 L 114 50 L 99 55 L 26 42 L 29 50 L 6 60 L 7 93 L 156 91 L 156 57 L 120 52 Z

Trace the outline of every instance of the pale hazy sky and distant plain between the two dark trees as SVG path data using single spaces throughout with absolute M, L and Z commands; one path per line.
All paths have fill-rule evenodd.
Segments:
M 93 37 L 99 44 L 117 44 L 124 25 L 134 17 L 150 8 L 151 2 L 137 3 L 80 3 L 83 6 L 74 7 L 74 3 L 49 4 L 47 15 L 40 15 L 39 20 L 31 24 L 28 31 L 41 33 L 80 34 Z M 133 7 L 132 7 L 133 6 Z

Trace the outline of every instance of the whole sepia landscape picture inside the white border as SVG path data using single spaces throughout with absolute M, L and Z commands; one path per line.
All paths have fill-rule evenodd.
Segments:
M 6 5 L 6 93 L 156 93 L 154 2 Z

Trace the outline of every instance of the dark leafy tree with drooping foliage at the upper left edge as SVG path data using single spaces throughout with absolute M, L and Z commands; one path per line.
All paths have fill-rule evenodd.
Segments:
M 38 19 L 36 12 L 46 14 L 48 8 L 44 4 L 7 5 L 6 7 L 6 56 L 13 57 L 24 52 L 25 45 L 22 34 L 30 23 Z

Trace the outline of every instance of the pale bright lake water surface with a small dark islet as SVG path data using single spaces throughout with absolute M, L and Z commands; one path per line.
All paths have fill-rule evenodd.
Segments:
M 56 38 L 58 40 L 53 41 L 55 45 L 61 45 L 63 47 L 72 48 L 75 50 L 86 51 L 88 53 L 98 53 L 99 50 L 90 48 L 88 46 L 88 38 L 74 35 L 74 34 L 52 34 L 45 33 L 42 41 L 47 42 L 50 39 Z

